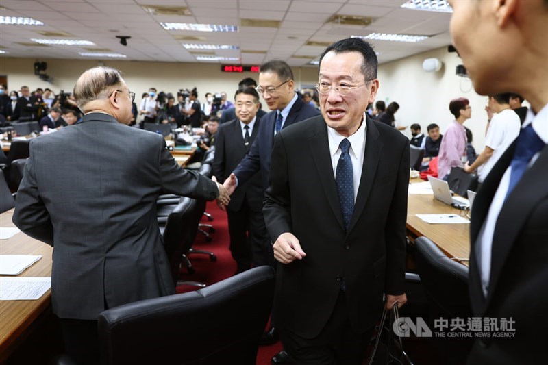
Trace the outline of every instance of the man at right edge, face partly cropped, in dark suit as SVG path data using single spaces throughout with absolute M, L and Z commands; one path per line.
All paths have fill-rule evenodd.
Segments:
M 548 0 L 449 2 L 453 44 L 475 91 L 512 90 L 531 103 L 470 225 L 474 316 L 504 318 L 515 336 L 477 338 L 468 363 L 536 364 L 548 343 Z

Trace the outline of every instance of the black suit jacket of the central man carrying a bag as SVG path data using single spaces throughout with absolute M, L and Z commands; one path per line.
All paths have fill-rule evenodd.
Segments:
M 351 326 L 371 328 L 383 292 L 403 294 L 409 140 L 366 119 L 364 166 L 349 231 L 345 231 L 322 116 L 275 137 L 264 219 L 274 241 L 294 234 L 306 257 L 278 264 L 276 301 L 282 326 L 313 338 L 332 314 L 345 278 Z

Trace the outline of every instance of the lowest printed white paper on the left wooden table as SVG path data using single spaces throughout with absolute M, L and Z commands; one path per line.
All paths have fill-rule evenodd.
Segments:
M 0 301 L 36 301 L 51 288 L 51 277 L 0 277 Z

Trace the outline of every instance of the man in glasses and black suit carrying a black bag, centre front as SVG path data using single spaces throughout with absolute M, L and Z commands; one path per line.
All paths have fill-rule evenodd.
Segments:
M 378 87 L 371 46 L 340 40 L 320 57 L 321 116 L 275 137 L 263 212 L 296 364 L 362 364 L 383 307 L 407 301 L 409 140 L 367 116 Z

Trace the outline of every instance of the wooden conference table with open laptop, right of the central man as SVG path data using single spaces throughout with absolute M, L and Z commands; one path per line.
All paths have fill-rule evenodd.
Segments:
M 421 180 L 419 180 L 421 181 Z M 434 198 L 433 195 L 409 194 L 407 212 L 408 238 L 426 236 L 448 257 L 470 257 L 470 224 L 430 224 L 416 214 L 460 214 L 460 210 Z M 468 265 L 468 261 L 462 261 Z

